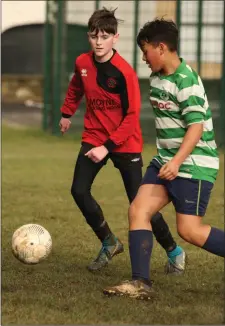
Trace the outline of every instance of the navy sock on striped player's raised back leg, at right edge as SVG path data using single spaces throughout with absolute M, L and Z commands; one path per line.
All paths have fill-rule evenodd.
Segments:
M 203 245 L 205 249 L 217 256 L 225 257 L 225 233 L 222 230 L 211 228 L 208 239 Z

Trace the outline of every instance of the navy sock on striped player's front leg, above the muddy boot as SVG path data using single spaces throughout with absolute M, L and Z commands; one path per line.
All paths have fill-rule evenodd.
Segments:
M 129 251 L 133 280 L 141 279 L 147 282 L 149 281 L 152 246 L 152 231 L 129 231 Z

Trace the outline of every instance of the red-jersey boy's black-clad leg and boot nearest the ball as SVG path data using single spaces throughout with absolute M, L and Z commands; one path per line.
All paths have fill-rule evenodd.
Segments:
M 102 249 L 98 257 L 88 266 L 89 270 L 94 271 L 106 266 L 109 259 L 122 252 L 123 245 L 110 230 L 101 207 L 91 195 L 92 183 L 107 160 L 94 163 L 86 157 L 84 154 L 92 147 L 92 145 L 85 144 L 80 150 L 74 170 L 71 193 L 87 223 L 102 242 Z

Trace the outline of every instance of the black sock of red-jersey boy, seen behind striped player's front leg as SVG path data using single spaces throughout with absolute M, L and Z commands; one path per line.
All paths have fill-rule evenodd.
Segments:
M 169 227 L 161 213 L 156 213 L 151 220 L 152 232 L 158 243 L 167 251 L 172 251 L 177 244 L 174 241 Z

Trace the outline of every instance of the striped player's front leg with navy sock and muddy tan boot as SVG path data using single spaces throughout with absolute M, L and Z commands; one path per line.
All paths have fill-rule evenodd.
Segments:
M 147 169 L 137 196 L 129 209 L 129 251 L 132 280 L 103 290 L 106 295 L 128 295 L 133 298 L 152 297 L 149 265 L 153 235 L 151 217 L 170 202 L 167 190 L 154 166 Z

